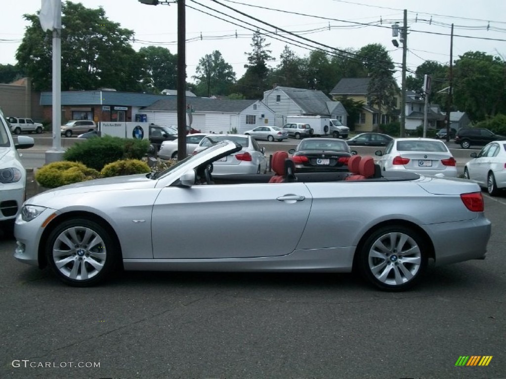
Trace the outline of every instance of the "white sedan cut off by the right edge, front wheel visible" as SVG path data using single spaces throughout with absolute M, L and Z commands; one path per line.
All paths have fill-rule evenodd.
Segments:
M 497 196 L 506 188 L 506 140 L 486 145 L 478 154 L 471 153 L 464 167 L 464 176 L 487 187 L 490 196 Z

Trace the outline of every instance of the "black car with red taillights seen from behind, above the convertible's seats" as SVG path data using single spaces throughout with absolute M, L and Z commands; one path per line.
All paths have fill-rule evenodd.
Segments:
M 352 156 L 345 140 L 330 138 L 311 138 L 301 141 L 291 160 L 296 172 L 349 171 L 348 159 Z

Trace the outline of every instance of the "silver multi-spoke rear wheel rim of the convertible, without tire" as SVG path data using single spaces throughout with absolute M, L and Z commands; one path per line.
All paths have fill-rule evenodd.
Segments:
M 369 270 L 374 277 L 390 286 L 400 286 L 412 280 L 421 265 L 421 252 L 407 234 L 391 232 L 372 244 L 368 255 Z

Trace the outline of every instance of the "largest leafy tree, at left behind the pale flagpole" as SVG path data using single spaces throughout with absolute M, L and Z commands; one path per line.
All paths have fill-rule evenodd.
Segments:
M 31 22 L 16 52 L 21 69 L 37 90 L 51 88 L 52 33 L 40 27 L 37 14 L 24 15 Z M 141 57 L 129 41 L 134 32 L 120 28 L 105 16 L 103 8 L 89 9 L 80 3 L 62 4 L 61 89 L 138 90 Z

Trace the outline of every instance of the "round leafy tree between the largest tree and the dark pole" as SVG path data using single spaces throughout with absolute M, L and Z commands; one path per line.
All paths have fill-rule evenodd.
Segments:
M 145 89 L 160 93 L 163 89 L 174 89 L 178 81 L 178 55 L 160 46 L 147 46 L 138 53 L 143 61 L 142 83 Z

